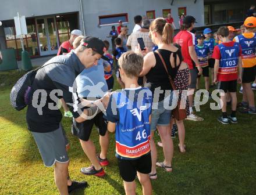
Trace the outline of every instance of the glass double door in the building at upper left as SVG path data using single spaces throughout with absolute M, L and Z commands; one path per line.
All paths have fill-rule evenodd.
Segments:
M 40 55 L 56 54 L 59 48 L 59 40 L 55 17 L 37 19 L 36 25 Z

